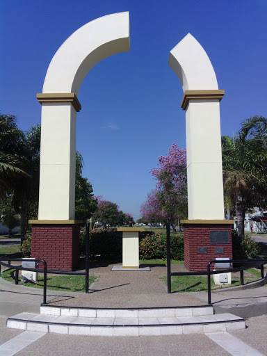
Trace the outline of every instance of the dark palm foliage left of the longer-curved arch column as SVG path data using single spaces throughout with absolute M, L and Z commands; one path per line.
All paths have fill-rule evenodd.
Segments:
M 19 130 L 15 116 L 0 115 L 0 198 L 11 196 L 21 217 L 22 241 L 29 218 L 38 213 L 40 125 L 27 133 Z

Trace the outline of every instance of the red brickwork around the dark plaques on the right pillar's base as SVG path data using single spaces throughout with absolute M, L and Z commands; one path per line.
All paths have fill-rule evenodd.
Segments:
M 229 243 L 211 244 L 211 230 L 227 230 Z M 198 248 L 207 248 L 207 253 L 199 253 Z M 216 254 L 215 248 L 224 248 L 224 254 Z M 186 224 L 184 225 L 184 264 L 188 270 L 207 270 L 211 259 L 233 258 L 231 225 L 225 224 Z

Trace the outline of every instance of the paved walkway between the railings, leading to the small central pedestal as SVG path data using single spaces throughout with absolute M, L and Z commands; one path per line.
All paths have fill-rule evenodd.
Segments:
M 152 266 L 151 271 L 111 271 L 113 265 L 92 268 L 90 273 L 99 280 L 90 286 L 90 293 L 75 293 L 75 298 L 57 298 L 56 305 L 127 308 L 127 307 L 178 307 L 206 305 L 189 293 L 168 294 L 160 277 L 166 275 L 165 266 Z M 183 265 L 173 265 L 173 270 L 184 270 Z

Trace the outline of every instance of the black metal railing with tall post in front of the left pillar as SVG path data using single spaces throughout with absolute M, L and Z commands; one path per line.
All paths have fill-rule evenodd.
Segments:
M 86 270 L 85 272 L 76 272 L 72 270 L 47 270 L 47 262 L 44 259 L 26 259 L 26 258 L 10 258 L 12 254 L 0 257 L 0 275 L 1 275 L 1 266 L 8 267 L 9 269 L 15 269 L 15 284 L 19 282 L 19 270 L 29 270 L 30 272 L 44 273 L 44 293 L 43 293 L 43 304 L 47 304 L 47 274 L 56 274 L 56 275 L 84 275 L 86 277 L 86 293 L 89 293 L 89 224 L 86 224 Z M 3 261 L 8 261 L 8 264 L 5 264 Z M 11 265 L 11 261 L 21 261 L 21 262 L 42 262 L 44 268 L 30 268 L 24 266 Z

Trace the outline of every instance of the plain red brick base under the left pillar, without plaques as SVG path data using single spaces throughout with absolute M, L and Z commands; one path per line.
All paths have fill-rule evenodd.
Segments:
M 79 225 L 33 225 L 31 257 L 47 261 L 50 270 L 76 269 L 79 264 Z

